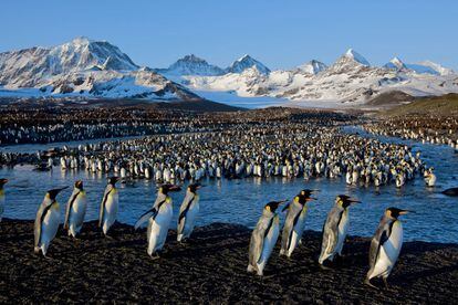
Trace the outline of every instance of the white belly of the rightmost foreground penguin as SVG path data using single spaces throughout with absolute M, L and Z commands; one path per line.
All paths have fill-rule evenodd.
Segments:
M 403 224 L 400 221 L 396 221 L 393 224 L 389 239 L 383 244 L 383 246 L 381 246 L 374 272 L 371 274 L 369 278 L 388 276 L 397 261 L 397 257 L 399 256 L 402 246 Z

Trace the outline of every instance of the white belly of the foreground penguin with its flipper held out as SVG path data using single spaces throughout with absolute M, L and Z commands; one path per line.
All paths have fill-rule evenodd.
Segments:
M 173 208 L 170 203 L 163 204 L 159 213 L 155 219 L 150 218 L 148 225 L 150 225 L 150 234 L 148 240 L 148 254 L 153 255 L 158 250 L 162 250 L 167 239 L 168 228 L 170 225 L 173 215 Z

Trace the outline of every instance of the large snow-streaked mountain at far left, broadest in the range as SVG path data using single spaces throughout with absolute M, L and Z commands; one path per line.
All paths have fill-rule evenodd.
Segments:
M 20 88 L 37 97 L 200 98 L 150 69 L 139 69 L 117 46 L 86 38 L 0 53 L 0 85 L 2 96 Z

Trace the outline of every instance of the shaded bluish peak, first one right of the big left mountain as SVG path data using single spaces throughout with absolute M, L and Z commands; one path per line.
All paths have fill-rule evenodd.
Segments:
M 168 69 L 157 70 L 165 75 L 202 75 L 215 76 L 222 75 L 225 71 L 219 66 L 209 64 L 207 61 L 197 57 L 194 54 L 179 59 Z

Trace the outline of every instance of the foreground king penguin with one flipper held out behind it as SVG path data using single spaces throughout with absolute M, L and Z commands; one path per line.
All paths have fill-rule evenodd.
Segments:
M 149 211 L 144 213 L 135 224 L 135 228 L 138 228 L 139 223 L 143 222 L 143 219 L 148 218 L 148 229 L 146 231 L 148 241 L 147 253 L 153 259 L 159 257 L 157 252 L 160 251 L 165 244 L 171 215 L 174 213 L 171 198 L 168 196 L 168 192 L 179 190 L 180 188 L 175 185 L 162 186 L 159 194 L 165 194 L 164 200 L 159 201 Z

